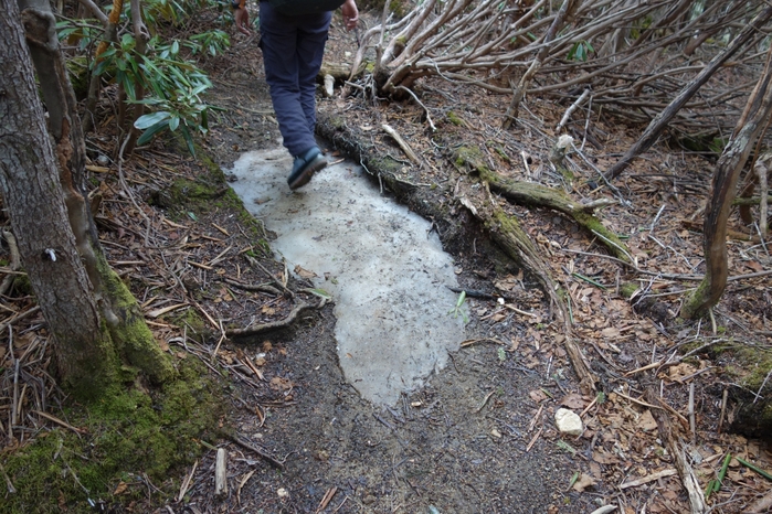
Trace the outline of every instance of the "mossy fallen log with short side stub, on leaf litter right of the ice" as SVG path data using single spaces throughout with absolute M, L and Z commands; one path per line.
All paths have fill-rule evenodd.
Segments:
M 458 150 L 456 152 L 456 161 L 459 160 L 470 165 L 478 173 L 480 180 L 488 183 L 491 191 L 501 194 L 508 201 L 528 207 L 552 208 L 570 216 L 579 225 L 597 236 L 614 257 L 633 264 L 631 253 L 625 244 L 616 234 L 603 226 L 601 221 L 593 214 L 595 208 L 609 205 L 607 202 L 582 205 L 557 189 L 504 178 L 485 164 L 479 151 L 476 149 Z

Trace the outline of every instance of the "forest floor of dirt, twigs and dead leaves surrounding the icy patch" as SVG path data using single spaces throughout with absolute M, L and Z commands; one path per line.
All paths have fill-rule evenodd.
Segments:
M 346 62 L 355 50 L 355 35 L 336 20 L 326 58 Z M 222 425 L 235 437 L 208 442 L 228 450 L 230 488 L 214 495 L 211 447 L 163 483 L 145 476 L 114 484 L 110 503 L 136 489 L 147 490 L 148 497 L 121 508 L 591 513 L 616 505 L 625 514 L 689 512 L 685 478 L 664 430 L 684 441 L 688 469 L 702 491 L 725 456 L 733 457 L 723 485 L 708 500 L 712 512 L 742 512 L 769 495 L 772 482 L 736 458 L 772 470 L 772 447 L 728 431 L 732 405 L 723 393 L 737 387 L 737 377 L 725 370 L 732 357 L 709 351 L 719 341 L 769 351 L 772 278 L 764 271 L 772 259 L 763 246 L 729 240 L 730 275 L 740 279 L 729 282 L 712 320 L 676 320 L 685 293 L 697 283 L 683 277 L 702 270 L 702 238 L 694 227 L 700 225 L 713 169 L 705 156 L 663 143 L 611 191 L 597 183 L 596 169 L 615 162 L 642 128 L 596 110 L 588 120 L 580 109 L 568 126 L 581 149 L 569 156 L 574 179 L 568 183 L 547 161 L 568 104 L 528 98 L 517 126 L 505 131 L 498 127 L 509 98 L 425 79 L 415 89 L 434 132 L 424 107 L 410 99 L 373 103 L 356 94 L 321 99 L 321 132 L 400 163 L 392 173 L 410 189 L 410 206 L 444 213 L 432 222 L 456 260 L 462 287 L 490 295 L 467 298 L 468 339 L 451 355 L 452 365 L 396 406 L 380 408 L 362 400 L 342 376 L 331 307 L 302 292 L 309 285 L 273 259 L 271 221 L 251 221 L 226 188 L 228 170 L 242 152 L 277 146 L 256 39 L 235 38 L 231 51 L 203 65 L 214 83 L 209 101 L 224 110 L 213 117 L 201 150 L 224 174 L 160 140 L 121 170 L 97 161 L 114 154 L 107 140 L 91 139 L 89 154 L 103 196 L 101 237 L 113 266 L 131 283 L 165 349 L 176 358 L 204 362 L 229 398 Z M 411 165 L 382 132 L 383 124 L 410 141 L 422 165 Z M 617 202 L 600 216 L 624 236 L 645 274 L 609 258 L 592 234 L 563 215 L 490 197 L 517 215 L 567 291 L 575 339 L 600 377 L 596 394 L 580 389 L 562 325 L 543 293 L 469 215 L 462 200 L 475 181 L 456 164 L 459 147 L 479 149 L 490 169 L 506 176 L 564 189 L 577 201 Z M 326 150 L 338 151 L 332 142 Z M 370 171 L 378 183 L 379 170 Z M 395 192 L 395 197 L 406 196 Z M 697 223 L 685 224 L 690 221 Z M 730 223 L 744 229 L 737 216 Z M 146 244 L 148 234 L 154 245 Z M 632 300 L 621 290 L 626 282 L 637 283 Z M 300 301 L 319 307 L 285 323 Z M 33 300 L 17 298 L 14 306 L 14 312 L 28 312 Z M 13 352 L 0 350 L 4 368 L 14 352 L 17 358 L 33 354 L 24 345 L 44 334 L 35 312 L 13 322 L 20 335 Z M 228 336 L 229 330 L 264 323 L 282 326 Z M 710 344 L 700 347 L 705 343 Z M 684 347 L 698 350 L 681 361 Z M 581 415 L 582 436 L 557 430 L 554 413 L 561 407 Z M 51 414 L 62 417 L 55 407 Z M 160 493 L 150 493 L 154 489 Z

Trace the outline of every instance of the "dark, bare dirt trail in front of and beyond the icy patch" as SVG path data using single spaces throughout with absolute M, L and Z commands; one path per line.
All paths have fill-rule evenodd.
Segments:
M 336 38 L 334 32 L 332 46 Z M 225 170 L 242 151 L 275 148 L 278 137 L 260 52 L 250 52 L 254 60 L 243 57 L 244 49 L 237 52 L 237 63 L 213 74 L 212 103 L 232 108 L 210 138 Z M 457 264 L 464 274 L 489 266 L 486 259 Z M 468 304 L 473 311 L 480 308 L 476 300 Z M 265 358 L 262 371 L 269 386 L 235 381 L 233 416 L 241 435 L 286 459 L 285 469 L 278 472 L 229 445 L 229 473 L 235 485 L 245 480 L 243 488 L 221 501 L 198 482 L 189 505 L 202 512 L 315 512 L 334 491 L 321 512 L 579 513 L 596 507 L 593 496 L 568 492 L 577 463 L 554 445 L 554 409 L 539 408 L 529 396 L 532 390 L 562 396 L 572 388 L 570 370 L 556 366 L 540 374 L 501 341 L 480 341 L 448 354 L 444 370 L 425 387 L 401 396 L 394 408 L 376 407 L 345 379 L 335 323 L 334 308 L 326 307 L 290 329 L 224 347 Z M 485 326 L 473 321 L 468 330 L 483 334 Z M 264 424 L 255 409 L 267 411 Z M 213 469 L 213 458 L 208 454 L 201 469 Z

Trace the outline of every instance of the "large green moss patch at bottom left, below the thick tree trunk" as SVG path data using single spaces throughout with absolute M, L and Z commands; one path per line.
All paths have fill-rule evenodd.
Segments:
M 145 496 L 142 473 L 172 495 L 179 484 L 168 480 L 170 471 L 200 456 L 197 439 L 215 438 L 223 414 L 215 390 L 203 366 L 191 360 L 182 361 L 178 378 L 159 392 L 115 387 L 94 405 L 68 407 L 64 417 L 87 432 L 56 428 L 3 456 L 18 493 L 4 497 L 2 512 L 94 512 L 88 499 L 109 499 L 121 481 L 128 491 L 108 503 L 127 503 Z

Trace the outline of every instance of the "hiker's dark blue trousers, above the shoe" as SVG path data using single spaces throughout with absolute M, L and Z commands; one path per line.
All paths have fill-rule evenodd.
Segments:
M 330 12 L 288 17 L 260 2 L 265 79 L 284 146 L 293 156 L 316 146 L 316 76 L 331 18 Z

